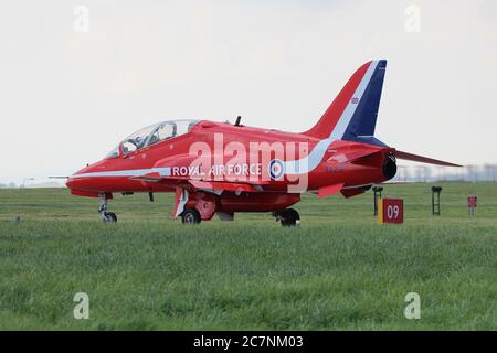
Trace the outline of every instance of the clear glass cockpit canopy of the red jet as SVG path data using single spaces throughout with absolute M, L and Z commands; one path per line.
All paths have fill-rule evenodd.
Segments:
M 119 157 L 120 146 L 123 146 L 123 153 L 128 154 L 141 148 L 190 132 L 197 122 L 199 122 L 199 120 L 170 120 L 147 126 L 124 139 L 123 142 L 105 158 Z

